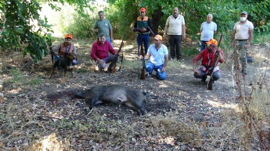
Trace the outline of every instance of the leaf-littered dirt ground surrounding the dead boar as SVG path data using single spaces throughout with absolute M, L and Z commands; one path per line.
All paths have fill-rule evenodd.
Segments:
M 2 91 L 5 101 L 0 104 L 0 150 L 195 151 L 243 148 L 241 140 L 231 137 L 232 133 L 217 134 L 215 131 L 227 129 L 230 124 L 233 127 L 239 122 L 225 121 L 228 114 L 224 111 L 234 110 L 238 104 L 238 92 L 226 65 L 221 65 L 221 78 L 211 91 L 206 89 L 206 83 L 193 77 L 194 56 L 184 56 L 181 62 L 169 61 L 164 81 L 156 77 L 140 80 L 135 73 L 138 72 L 139 62 L 136 61 L 134 43 L 125 44 L 123 66 L 115 74 L 94 72 L 95 65 L 89 57 L 91 44 L 84 44 L 77 46 L 79 65 L 75 69 L 75 79 L 68 74 L 68 78 L 63 80 L 61 72 L 50 79 L 50 56 L 40 63 L 20 57 L 5 60 L 1 72 L 5 81 Z M 120 41 L 114 43 L 115 49 L 119 44 Z M 246 81 L 256 85 L 268 63 L 265 57 L 269 44 L 254 44 L 250 51 L 254 62 L 248 64 Z M 231 51 L 224 53 L 231 68 Z M 269 67 L 265 81 L 270 87 Z M 150 94 L 144 102 L 147 114 L 137 116 L 130 108 L 111 104 L 89 111 L 84 100 L 71 100 L 59 106 L 46 97 L 57 91 L 101 85 L 131 86 L 146 91 Z M 59 96 L 60 102 L 69 100 L 62 95 L 64 93 Z M 57 149 L 41 143 L 49 135 L 55 137 L 51 144 L 57 144 Z M 259 149 L 258 140 L 253 142 L 252 147 Z

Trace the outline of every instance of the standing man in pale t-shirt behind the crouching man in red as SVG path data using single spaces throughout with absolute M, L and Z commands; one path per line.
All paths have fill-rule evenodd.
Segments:
M 205 49 L 206 42 L 214 39 L 214 34 L 216 34 L 216 23 L 212 22 L 213 15 L 208 14 L 206 17 L 206 22 L 201 24 L 201 49 Z

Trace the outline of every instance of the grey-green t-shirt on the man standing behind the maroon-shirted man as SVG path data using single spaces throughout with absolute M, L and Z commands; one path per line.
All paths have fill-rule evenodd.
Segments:
M 104 33 L 106 35 L 106 39 L 110 39 L 109 30 L 112 29 L 110 22 L 107 19 L 97 20 L 94 25 L 94 29 L 98 29 L 98 35 L 100 33 Z

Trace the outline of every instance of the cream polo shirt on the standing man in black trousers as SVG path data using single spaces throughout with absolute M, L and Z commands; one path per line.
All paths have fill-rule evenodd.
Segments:
M 168 26 L 168 35 L 182 35 L 182 25 L 185 25 L 185 19 L 182 15 L 178 15 L 174 18 L 173 15 L 169 16 L 166 21 L 166 26 Z

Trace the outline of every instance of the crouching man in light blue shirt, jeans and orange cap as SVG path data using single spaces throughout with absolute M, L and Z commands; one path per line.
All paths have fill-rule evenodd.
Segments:
M 145 70 L 148 72 L 148 78 L 152 78 L 153 70 L 157 72 L 158 79 L 165 80 L 166 72 L 165 67 L 168 63 L 168 49 L 162 44 L 162 36 L 155 36 L 155 43 L 148 47 L 147 53 L 144 59 L 148 59 L 145 65 Z M 142 59 L 143 57 L 140 56 Z

